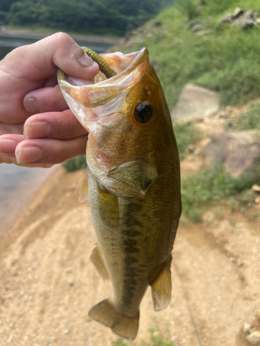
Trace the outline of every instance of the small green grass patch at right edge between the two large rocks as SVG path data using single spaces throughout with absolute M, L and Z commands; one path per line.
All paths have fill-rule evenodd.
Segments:
M 249 107 L 248 111 L 239 114 L 227 122 L 227 129 L 231 130 L 260 130 L 260 102 Z

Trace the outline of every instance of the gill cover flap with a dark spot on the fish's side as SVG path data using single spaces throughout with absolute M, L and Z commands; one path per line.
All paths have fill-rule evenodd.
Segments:
M 135 161 L 113 167 L 107 174 L 107 178 L 112 179 L 107 188 L 115 194 L 143 198 L 157 176 L 155 156 L 150 153 Z

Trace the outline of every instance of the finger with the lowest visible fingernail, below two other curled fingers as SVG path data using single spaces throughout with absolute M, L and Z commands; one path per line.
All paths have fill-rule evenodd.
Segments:
M 42 164 L 62 163 L 70 158 L 84 155 L 87 135 L 70 140 L 28 139 L 19 143 L 15 149 L 17 163 Z

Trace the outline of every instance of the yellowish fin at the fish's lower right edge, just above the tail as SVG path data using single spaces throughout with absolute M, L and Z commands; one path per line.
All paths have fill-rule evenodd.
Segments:
M 170 255 L 155 280 L 150 283 L 155 311 L 165 309 L 171 300 L 171 260 Z

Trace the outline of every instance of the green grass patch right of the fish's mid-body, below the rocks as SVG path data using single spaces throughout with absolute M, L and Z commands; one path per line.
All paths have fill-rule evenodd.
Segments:
M 223 199 L 227 199 L 231 207 L 235 205 L 234 201 L 243 208 L 249 207 L 256 197 L 249 189 L 259 179 L 260 170 L 252 176 L 242 174 L 238 179 L 232 179 L 222 167 L 185 176 L 182 178 L 183 215 L 200 222 L 202 212 L 209 206 L 218 205 Z

